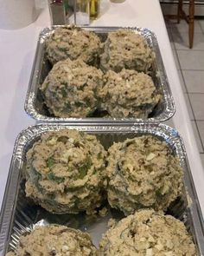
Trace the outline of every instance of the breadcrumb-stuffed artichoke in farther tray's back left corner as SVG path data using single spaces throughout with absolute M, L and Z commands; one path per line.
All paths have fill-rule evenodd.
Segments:
M 48 37 L 48 60 L 56 62 L 70 58 L 80 58 L 87 64 L 95 65 L 99 62 L 99 36 L 94 32 L 81 30 L 76 27 L 59 27 Z

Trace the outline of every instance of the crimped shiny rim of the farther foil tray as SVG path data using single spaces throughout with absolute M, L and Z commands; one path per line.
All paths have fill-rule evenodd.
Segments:
M 44 54 L 44 42 L 46 38 L 48 37 L 49 34 L 53 33 L 54 30 L 57 27 L 63 27 L 63 25 L 58 25 L 58 26 L 53 26 L 51 29 L 50 28 L 45 28 L 41 30 L 38 43 L 37 43 L 37 49 L 35 53 L 35 61 L 33 64 L 33 69 L 31 72 L 30 76 L 30 81 L 29 81 L 29 89 L 26 95 L 25 99 L 25 104 L 24 108 L 26 113 L 34 118 L 36 121 L 40 122 L 74 122 L 77 124 L 86 124 L 86 123 L 105 123 L 106 125 L 114 125 L 114 124 L 133 124 L 133 123 L 138 123 L 138 122 L 143 122 L 143 119 L 140 118 L 62 118 L 62 117 L 50 117 L 47 115 L 42 115 L 39 113 L 37 108 L 35 107 L 35 101 L 36 101 L 36 94 L 37 94 L 37 79 L 38 75 L 41 69 L 41 63 L 43 62 L 43 54 Z M 122 27 L 88 27 L 88 26 L 83 26 L 81 27 L 84 30 L 90 30 L 90 31 L 99 31 L 99 32 L 109 32 L 113 30 L 118 30 L 122 29 Z M 164 69 L 163 65 L 163 59 L 160 53 L 160 49 L 158 46 L 158 42 L 156 39 L 156 35 L 144 28 L 139 28 L 139 27 L 123 27 L 123 29 L 126 30 L 134 30 L 146 37 L 150 41 L 150 47 L 154 49 L 154 52 L 156 54 L 156 73 L 159 75 L 160 79 L 160 87 L 163 93 L 163 100 L 164 100 L 164 109 L 163 112 L 160 113 L 159 115 L 155 117 L 150 117 L 146 119 L 146 122 L 162 122 L 162 121 L 167 121 L 169 118 L 171 118 L 175 114 L 175 102 L 173 99 L 173 95 L 171 93 L 170 87 L 169 87 L 169 81 L 168 77 L 166 75 L 166 71 Z

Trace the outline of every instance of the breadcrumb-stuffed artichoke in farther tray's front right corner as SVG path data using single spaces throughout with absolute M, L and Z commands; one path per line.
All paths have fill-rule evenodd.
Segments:
M 150 75 L 143 72 L 109 70 L 103 78 L 104 85 L 99 89 L 101 108 L 114 118 L 147 118 L 161 98 Z

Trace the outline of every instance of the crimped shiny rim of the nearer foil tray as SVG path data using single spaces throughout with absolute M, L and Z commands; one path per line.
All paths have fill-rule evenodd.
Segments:
M 31 141 L 40 136 L 46 131 L 59 130 L 62 128 L 76 128 L 92 134 L 105 135 L 128 135 L 128 134 L 152 134 L 162 138 L 178 155 L 181 165 L 184 169 L 184 183 L 186 194 L 188 195 L 188 207 L 186 211 L 190 216 L 191 228 L 193 230 L 194 240 L 201 255 L 204 254 L 204 227 L 201 215 L 201 208 L 198 203 L 198 198 L 194 189 L 194 181 L 189 169 L 187 154 L 184 148 L 182 138 L 175 128 L 170 128 L 165 124 L 141 123 L 137 126 L 101 126 L 98 124 L 89 126 L 77 126 L 75 124 L 40 124 L 31 126 L 22 130 L 18 135 L 15 143 L 14 153 L 10 164 L 10 173 L 6 186 L 6 191 L 3 198 L 3 208 L 0 220 L 0 254 L 4 253 L 9 246 L 9 235 L 14 220 L 16 209 L 16 197 L 18 194 L 19 175 L 23 164 L 23 154 Z M 185 212 L 186 212 L 185 211 Z M 26 220 L 29 223 L 31 220 Z M 31 226 L 32 227 L 32 226 Z M 24 228 L 27 231 L 26 228 Z

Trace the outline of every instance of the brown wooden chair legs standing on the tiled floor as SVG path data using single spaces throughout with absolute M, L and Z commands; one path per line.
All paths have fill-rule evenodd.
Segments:
M 194 44 L 194 0 L 189 0 L 188 15 L 183 10 L 183 0 L 179 0 L 177 22 L 180 23 L 180 19 L 184 18 L 188 23 L 188 38 L 189 48 L 191 49 Z

